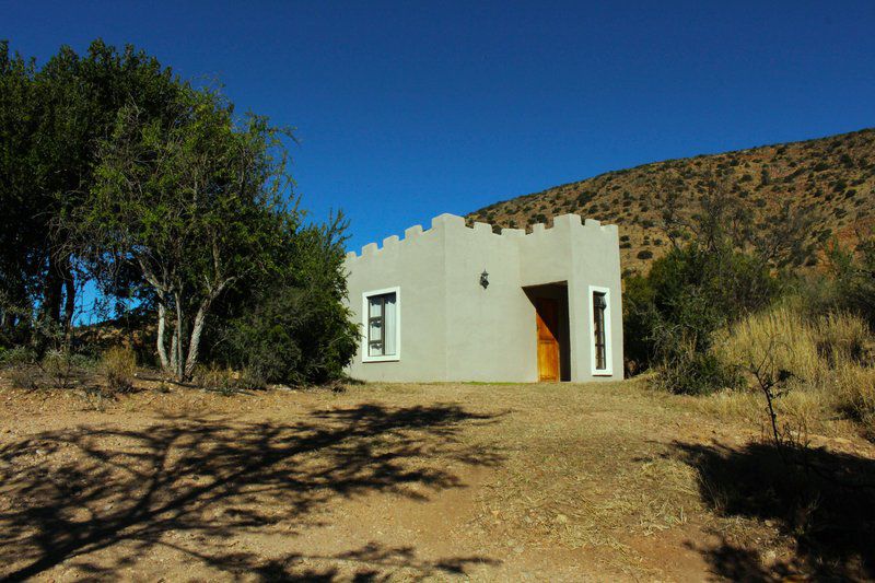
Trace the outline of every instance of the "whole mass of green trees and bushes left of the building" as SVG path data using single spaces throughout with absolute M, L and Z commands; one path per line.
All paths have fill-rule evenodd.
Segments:
M 228 341 L 206 352 L 253 374 L 340 374 L 352 338 L 343 225 L 303 226 L 290 130 L 101 40 L 81 57 L 62 47 L 39 69 L 0 44 L 0 347 L 72 354 L 77 292 L 90 280 L 119 314 L 152 314 L 158 361 L 179 380 L 201 337 L 222 340 L 211 327 Z M 303 319 L 283 320 L 287 311 Z M 259 339 L 273 330 L 277 343 L 232 349 L 249 328 Z

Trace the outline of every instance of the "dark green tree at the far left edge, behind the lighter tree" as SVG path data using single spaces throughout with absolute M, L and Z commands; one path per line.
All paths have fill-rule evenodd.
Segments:
M 95 40 L 84 57 L 70 47 L 37 69 L 0 44 L 0 201 L 4 209 L 3 291 L 24 312 L 69 333 L 77 295 L 77 257 L 62 215 L 94 184 L 95 143 L 136 96 L 160 116 L 182 83 L 170 69 L 128 46 Z M 4 257 L 5 258 L 5 257 Z M 80 273 L 81 276 L 81 273 Z

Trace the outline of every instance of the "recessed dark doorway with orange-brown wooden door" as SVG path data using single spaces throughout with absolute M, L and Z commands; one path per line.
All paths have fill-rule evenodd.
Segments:
M 535 307 L 538 381 L 571 381 L 568 284 L 532 285 L 524 291 Z

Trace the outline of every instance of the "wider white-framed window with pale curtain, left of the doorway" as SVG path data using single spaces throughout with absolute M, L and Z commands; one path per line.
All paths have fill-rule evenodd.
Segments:
M 399 360 L 401 352 L 400 290 L 389 288 L 362 294 L 363 362 Z

